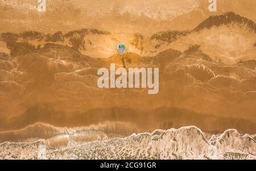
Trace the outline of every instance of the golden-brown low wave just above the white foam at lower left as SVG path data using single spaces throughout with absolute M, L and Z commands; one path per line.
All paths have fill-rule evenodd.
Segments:
M 38 122 L 20 130 L 0 131 L 0 143 L 6 141 L 27 143 L 44 139 L 47 147 L 60 148 L 67 147 L 70 143 L 81 144 L 94 140 L 125 137 L 139 131 L 141 130 L 135 125 L 125 122 L 103 122 L 81 127 L 56 127 Z

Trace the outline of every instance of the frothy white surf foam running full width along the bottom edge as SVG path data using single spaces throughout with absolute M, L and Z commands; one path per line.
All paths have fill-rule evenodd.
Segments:
M 73 143 L 76 138 L 86 139 L 86 134 L 97 139 Z M 53 139 L 5 142 L 0 144 L 0 159 L 256 159 L 255 135 L 235 129 L 214 135 L 186 126 L 111 139 L 104 132 L 86 134 L 69 136 L 68 146 L 62 148 L 48 147 Z M 54 140 L 57 142 L 58 138 L 65 136 L 55 136 Z

